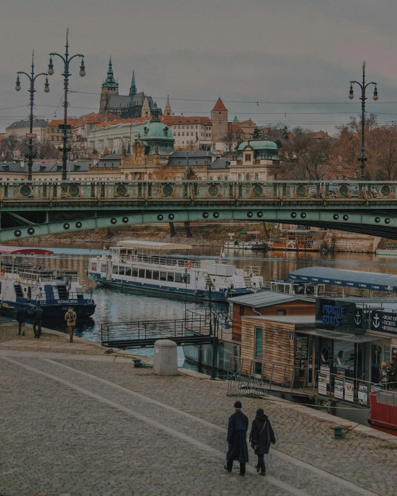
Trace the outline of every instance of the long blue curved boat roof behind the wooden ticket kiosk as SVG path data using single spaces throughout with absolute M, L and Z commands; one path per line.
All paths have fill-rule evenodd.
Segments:
M 397 292 L 397 275 L 394 274 L 346 271 L 329 267 L 306 267 L 289 273 L 289 277 L 301 282 L 323 282 L 335 286 Z

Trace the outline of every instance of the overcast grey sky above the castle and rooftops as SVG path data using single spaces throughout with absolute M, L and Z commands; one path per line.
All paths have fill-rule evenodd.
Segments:
M 15 91 L 17 71 L 47 71 L 49 52 L 85 55 L 86 76 L 71 62 L 69 115 L 98 112 L 102 80 L 112 56 L 119 93 L 137 91 L 172 112 L 210 116 L 218 97 L 229 120 L 258 126 L 285 123 L 335 133 L 360 112 L 359 87 L 369 87 L 367 110 L 397 121 L 397 2 L 395 0 L 0 0 L 0 132 L 28 117 L 28 79 Z M 35 116 L 62 118 L 62 67 L 37 78 Z

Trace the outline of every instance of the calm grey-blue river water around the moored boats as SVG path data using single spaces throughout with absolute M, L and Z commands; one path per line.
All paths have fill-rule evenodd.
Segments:
M 78 320 L 76 326 L 77 336 L 101 341 L 101 325 L 104 323 L 183 318 L 185 309 L 201 309 L 205 305 L 205 303 L 196 304 L 189 301 L 184 302 L 96 288 L 95 283 L 89 280 L 85 273 L 88 259 L 92 255 L 102 253 L 103 248 L 110 248 L 108 241 L 104 244 L 64 241 L 37 242 L 32 239 L 13 244 L 51 248 L 54 255 L 47 257 L 21 256 L 18 257 L 18 260 L 51 266 L 52 268 L 76 270 L 84 291 L 92 291 L 92 296 L 96 303 L 95 314 L 92 318 L 87 318 L 84 321 Z M 195 246 L 190 254 L 192 257 L 219 259 L 219 250 L 219 246 Z M 228 250 L 226 252 L 226 261 L 238 268 L 243 268 L 245 265 L 258 266 L 265 282 L 269 282 L 271 279 L 285 279 L 290 272 L 307 266 L 327 266 L 355 271 L 397 274 L 397 257 L 380 257 L 366 253 L 273 253 Z M 45 325 L 65 332 L 67 330 L 63 322 L 49 322 L 45 323 Z M 153 349 L 140 350 L 140 354 L 151 356 Z M 179 364 L 182 366 L 184 361 L 182 348 L 178 348 L 178 358 Z

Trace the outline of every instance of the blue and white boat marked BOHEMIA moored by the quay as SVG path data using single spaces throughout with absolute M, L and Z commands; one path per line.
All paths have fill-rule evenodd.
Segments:
M 2 250 L 1 248 L 8 248 Z M 20 248 L 0 247 L 1 253 L 15 254 Z M 31 248 L 29 250 L 32 251 Z M 34 249 L 34 254 L 51 254 L 49 250 Z M 1 262 L 0 262 L 1 263 Z M 78 282 L 77 271 L 64 271 L 52 268 L 27 266 L 12 262 L 0 266 L 0 308 L 6 315 L 15 316 L 15 312 L 24 307 L 31 314 L 33 308 L 41 307 L 44 318 L 64 318 L 69 306 L 74 308 L 78 317 L 91 316 L 95 311 L 92 296 L 83 293 Z

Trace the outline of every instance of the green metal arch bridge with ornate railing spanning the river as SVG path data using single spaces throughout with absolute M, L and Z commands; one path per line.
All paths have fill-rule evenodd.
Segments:
M 0 242 L 118 225 L 222 220 L 397 239 L 397 182 L 0 182 Z

